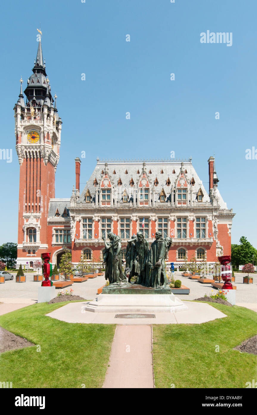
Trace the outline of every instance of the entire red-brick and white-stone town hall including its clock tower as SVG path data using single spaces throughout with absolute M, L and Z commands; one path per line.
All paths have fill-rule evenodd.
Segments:
M 76 265 L 82 254 L 101 261 L 103 239 L 118 234 L 125 258 L 127 240 L 143 232 L 149 245 L 156 231 L 171 237 L 166 260 L 175 266 L 231 254 L 233 213 L 219 193 L 215 159 L 209 157 L 209 189 L 192 159 L 97 159 L 80 189 L 81 160 L 75 159 L 75 187 L 70 198 L 55 198 L 62 120 L 53 97 L 41 41 L 33 73 L 14 107 L 16 150 L 20 164 L 17 267 L 51 253 L 60 264 L 66 249 Z M 199 160 L 200 161 L 200 160 Z M 83 180 L 85 182 L 85 180 Z

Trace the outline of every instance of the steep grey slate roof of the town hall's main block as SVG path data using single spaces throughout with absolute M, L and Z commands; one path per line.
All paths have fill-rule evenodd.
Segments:
M 196 195 L 199 191 L 199 188 L 201 188 L 204 195 L 203 202 L 210 202 L 209 193 L 207 193 L 207 191 L 205 190 L 202 181 L 200 180 L 199 176 L 197 175 L 197 172 L 195 171 L 195 168 L 192 165 L 191 160 L 192 159 L 189 159 L 189 161 L 183 161 L 183 171 L 187 171 L 187 173 L 185 173 L 185 176 L 189 182 L 191 181 L 192 177 L 195 180 L 195 186 L 192 186 L 193 200 L 196 200 Z M 133 178 L 133 181 L 135 183 L 134 187 L 137 188 L 137 180 L 139 179 L 142 173 L 143 161 L 108 161 L 107 164 L 109 176 L 113 181 L 113 187 L 117 186 L 119 179 L 121 179 L 121 190 L 124 191 L 126 188 L 130 194 L 133 190 L 133 188 L 130 186 L 130 180 L 131 178 Z M 151 181 L 151 188 L 156 178 L 159 182 L 158 186 L 154 186 L 156 201 L 159 200 L 159 195 L 161 193 L 162 188 L 164 189 L 166 196 L 169 196 L 169 198 L 171 197 L 171 186 L 173 185 L 173 187 L 175 187 L 178 174 L 180 173 L 180 168 L 181 161 L 145 161 L 145 171 L 147 172 L 147 176 Z M 94 201 L 94 195 L 96 191 L 96 187 L 94 186 L 94 180 L 96 178 L 98 183 L 101 182 L 101 171 L 104 171 L 104 169 L 105 161 L 97 161 L 96 167 L 94 168 L 94 171 L 91 174 L 89 181 L 86 182 L 86 186 L 82 190 L 78 202 L 84 203 L 87 188 L 89 188 Z M 116 174 L 113 174 L 114 170 Z M 126 170 L 128 174 L 125 174 Z M 150 170 L 151 174 L 149 174 Z M 174 170 L 175 173 L 173 173 Z M 139 174 L 137 173 L 137 171 L 139 171 Z M 161 171 L 163 171 L 163 174 L 161 174 Z M 166 181 L 168 180 L 168 178 L 171 181 L 170 186 L 166 185 Z M 223 202 L 222 198 L 220 200 Z

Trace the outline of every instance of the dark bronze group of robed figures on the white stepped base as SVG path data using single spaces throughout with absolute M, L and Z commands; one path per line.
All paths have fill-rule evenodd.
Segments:
M 103 264 L 106 266 L 105 278 L 110 286 L 134 284 L 149 288 L 166 288 L 168 279 L 165 270 L 165 258 L 171 247 L 171 238 L 162 238 L 161 232 L 156 232 L 155 241 L 151 244 L 144 238 L 142 232 L 137 232 L 127 241 L 125 273 L 122 271 L 120 237 L 108 233 L 109 242 L 103 237 L 105 249 Z M 128 277 L 128 279 L 127 279 Z

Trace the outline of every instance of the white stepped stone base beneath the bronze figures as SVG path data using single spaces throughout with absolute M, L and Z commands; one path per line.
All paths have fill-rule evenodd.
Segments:
M 174 294 L 99 294 L 84 307 L 92 312 L 179 312 L 188 308 Z

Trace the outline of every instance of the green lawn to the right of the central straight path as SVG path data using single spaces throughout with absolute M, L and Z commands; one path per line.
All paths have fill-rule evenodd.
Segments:
M 209 304 L 228 317 L 200 325 L 153 325 L 156 388 L 245 388 L 256 379 L 256 355 L 233 350 L 257 334 L 256 312 Z

